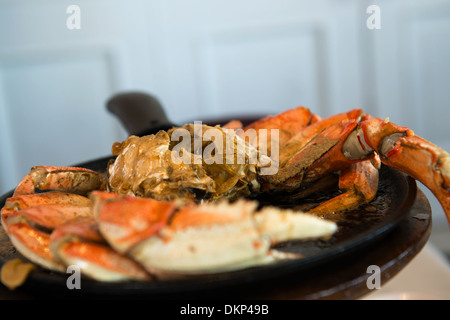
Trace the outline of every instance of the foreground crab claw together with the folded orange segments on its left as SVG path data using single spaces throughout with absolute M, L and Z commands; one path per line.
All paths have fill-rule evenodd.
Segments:
M 328 237 L 337 229 L 301 212 L 258 211 L 248 200 L 182 205 L 93 190 L 82 204 L 54 211 L 54 204 L 13 205 L 22 198 L 28 197 L 11 198 L 2 209 L 3 227 L 17 250 L 46 269 L 64 272 L 78 265 L 100 281 L 204 275 L 298 258 L 271 246 Z M 78 205 L 80 211 L 74 210 Z

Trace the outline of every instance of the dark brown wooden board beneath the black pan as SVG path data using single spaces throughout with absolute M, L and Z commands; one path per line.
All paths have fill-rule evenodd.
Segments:
M 373 276 L 367 270 L 369 266 L 375 265 L 380 268 L 382 287 L 421 251 L 428 241 L 430 233 L 431 207 L 423 192 L 418 190 L 412 207 L 400 224 L 380 241 L 365 248 L 362 252 L 358 251 L 351 257 L 317 268 L 301 277 L 291 278 L 276 287 L 243 293 L 242 296 L 237 295 L 235 298 L 252 300 L 358 299 L 372 292 L 367 285 L 368 278 Z M 37 296 L 23 292 L 20 288 L 10 291 L 0 285 L 0 299 L 35 298 L 50 297 L 47 297 L 45 292 Z

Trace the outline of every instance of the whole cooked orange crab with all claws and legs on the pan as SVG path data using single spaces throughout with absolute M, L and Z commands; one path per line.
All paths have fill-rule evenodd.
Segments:
M 204 134 L 208 139 L 197 140 Z M 342 194 L 309 213 L 348 210 L 375 197 L 381 162 L 424 183 L 450 219 L 448 153 L 359 109 L 321 119 L 298 107 L 245 127 L 238 121 L 223 128 L 186 125 L 131 136 L 112 152 L 107 177 L 83 168 L 32 168 L 1 212 L 24 256 L 59 271 L 76 263 L 103 281 L 217 273 L 288 259 L 272 244 L 326 237 L 336 224 L 289 210 L 257 210 L 240 198 L 280 190 L 307 194 L 338 174 Z

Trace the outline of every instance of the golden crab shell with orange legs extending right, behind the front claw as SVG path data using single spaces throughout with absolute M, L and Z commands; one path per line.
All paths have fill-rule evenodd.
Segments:
M 245 127 L 232 121 L 220 128 L 222 139 L 200 138 L 197 149 L 191 140 L 211 127 L 202 126 L 200 133 L 192 125 L 184 128 L 190 134 L 190 148 L 180 148 L 184 152 L 180 158 L 189 161 L 173 160 L 179 140 L 172 134 L 179 128 L 116 143 L 112 152 L 117 158 L 108 168 L 110 190 L 199 202 L 279 190 L 303 189 L 308 193 L 328 186 L 328 176 L 338 174 L 342 194 L 310 211 L 337 212 L 375 197 L 378 169 L 383 163 L 427 186 L 450 219 L 449 154 L 412 130 L 373 118 L 360 109 L 321 119 L 298 107 Z M 227 139 L 232 143 L 226 144 Z M 241 146 L 233 149 L 232 158 L 245 159 L 243 163 L 224 160 L 230 145 Z M 205 151 L 211 149 L 226 151 L 219 154 L 222 163 L 208 162 L 210 153 L 205 157 Z M 258 161 L 254 161 L 254 154 Z M 192 161 L 195 157 L 200 161 Z

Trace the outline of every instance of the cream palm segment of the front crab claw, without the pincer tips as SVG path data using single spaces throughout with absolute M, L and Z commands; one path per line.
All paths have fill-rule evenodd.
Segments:
M 131 255 L 155 274 L 208 274 L 257 265 L 270 247 L 254 226 L 255 204 L 237 202 L 186 206 L 161 236 Z

